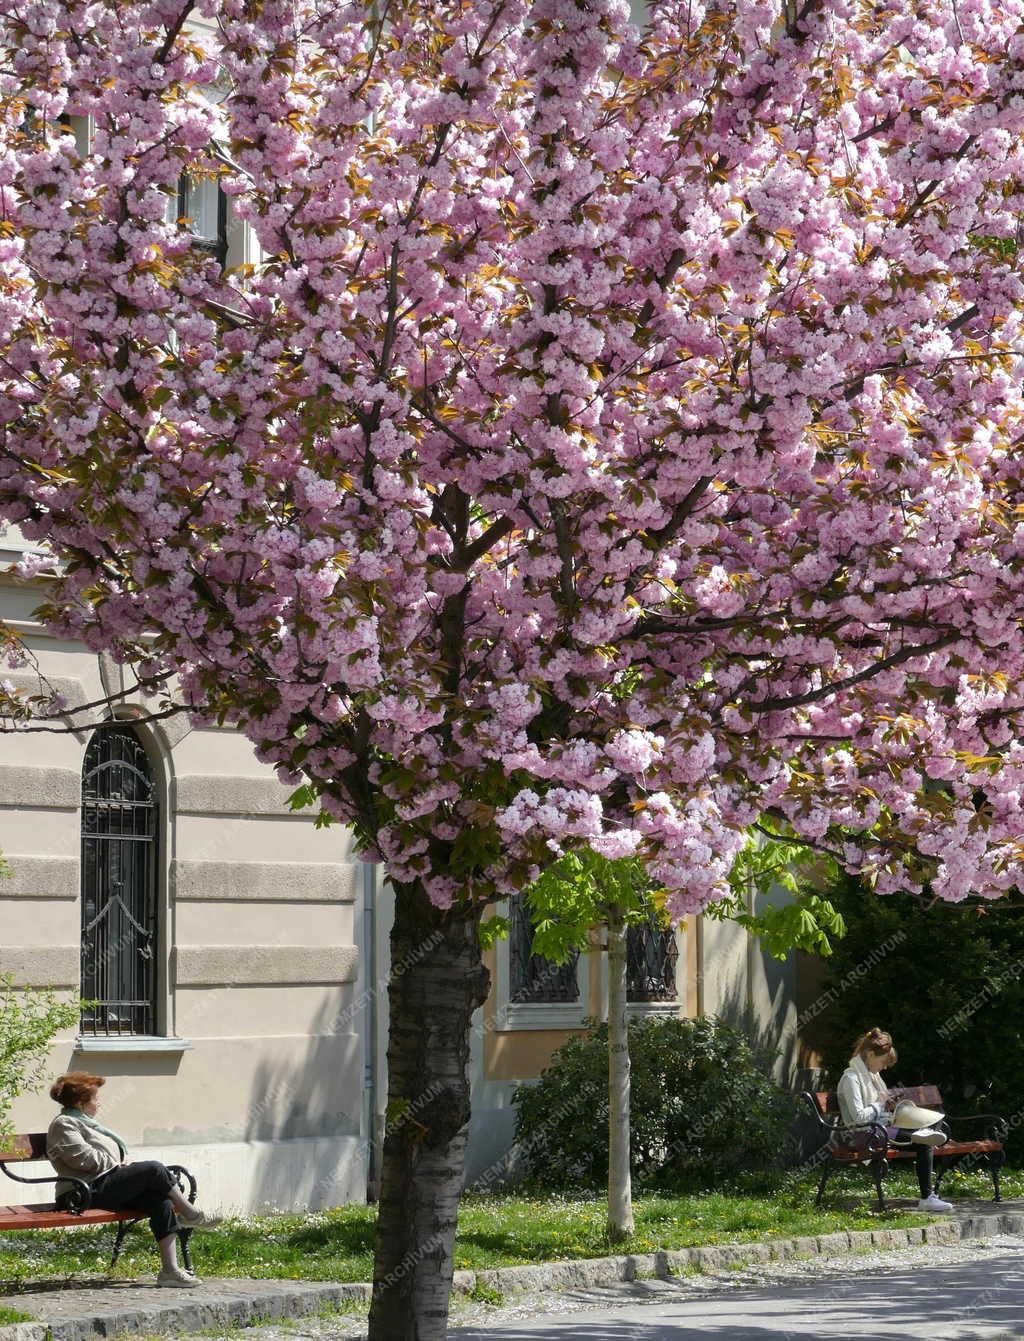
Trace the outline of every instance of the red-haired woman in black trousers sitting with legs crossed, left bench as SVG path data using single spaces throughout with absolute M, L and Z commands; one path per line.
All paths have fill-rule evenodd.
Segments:
M 200 1282 L 178 1266 L 180 1228 L 209 1230 L 220 1216 L 206 1215 L 192 1206 L 174 1183 L 173 1175 L 157 1160 L 127 1161 L 121 1137 L 97 1121 L 98 1092 L 103 1075 L 68 1071 L 50 1086 L 50 1097 L 60 1112 L 50 1124 L 46 1153 L 58 1177 L 88 1183 L 91 1204 L 103 1211 L 137 1211 L 149 1216 L 159 1246 L 161 1270 L 157 1285 L 189 1289 Z M 58 1181 L 58 1206 L 68 1191 Z

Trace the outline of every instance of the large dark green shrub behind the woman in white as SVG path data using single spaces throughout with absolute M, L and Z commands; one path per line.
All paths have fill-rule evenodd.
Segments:
M 1024 898 L 921 902 L 878 897 L 847 878 L 828 897 L 846 937 L 824 961 L 803 1037 L 831 1082 L 854 1039 L 878 1025 L 899 1061 L 890 1085 L 938 1085 L 946 1112 L 1011 1120 L 1008 1152 L 1024 1161 Z

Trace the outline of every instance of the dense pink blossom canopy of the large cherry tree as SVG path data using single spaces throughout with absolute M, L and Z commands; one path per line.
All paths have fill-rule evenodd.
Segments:
M 1000 893 L 1023 15 L 3 0 L 0 507 L 50 621 L 441 907 L 588 843 L 681 915 L 760 815 Z

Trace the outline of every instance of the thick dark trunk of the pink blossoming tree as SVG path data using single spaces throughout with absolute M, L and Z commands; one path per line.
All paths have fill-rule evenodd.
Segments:
M 387 1126 L 370 1341 L 442 1341 L 469 1124 L 469 1023 L 487 998 L 480 912 L 395 888 Z

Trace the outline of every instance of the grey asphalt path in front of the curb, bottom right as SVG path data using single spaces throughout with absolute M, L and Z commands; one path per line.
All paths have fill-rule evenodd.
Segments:
M 649 1281 L 604 1291 L 607 1305 L 483 1328 L 452 1341 L 1003 1341 L 1024 1338 L 1024 1252 L 972 1262 L 830 1273 L 694 1298 Z M 684 1297 L 684 1293 L 686 1297 Z M 626 1301 L 630 1302 L 626 1302 Z M 645 1302 L 633 1302 L 643 1299 Z

